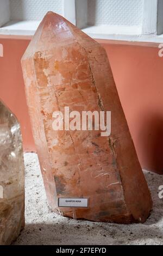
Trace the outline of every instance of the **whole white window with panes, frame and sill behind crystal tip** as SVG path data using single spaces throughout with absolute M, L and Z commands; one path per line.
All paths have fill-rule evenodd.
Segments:
M 163 39 L 162 0 L 1 0 L 0 34 L 33 35 L 49 10 L 93 38 Z

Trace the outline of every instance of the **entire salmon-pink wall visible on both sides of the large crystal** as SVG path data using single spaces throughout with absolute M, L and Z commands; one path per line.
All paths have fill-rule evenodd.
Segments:
M 34 151 L 20 59 L 29 40 L 0 39 L 0 97 L 21 123 L 23 147 Z M 163 58 L 157 47 L 103 44 L 143 168 L 163 174 Z

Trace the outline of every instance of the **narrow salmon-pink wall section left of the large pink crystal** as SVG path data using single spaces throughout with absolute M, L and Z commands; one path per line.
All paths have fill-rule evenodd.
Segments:
M 0 57 L 0 99 L 21 123 L 24 150 L 34 151 L 20 63 L 29 40 L 0 39 L 0 44 L 4 48 L 4 57 Z

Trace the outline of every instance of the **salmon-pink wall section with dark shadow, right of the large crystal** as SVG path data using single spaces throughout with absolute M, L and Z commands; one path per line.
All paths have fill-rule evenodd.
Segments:
M 157 47 L 106 45 L 143 168 L 163 174 L 163 58 Z

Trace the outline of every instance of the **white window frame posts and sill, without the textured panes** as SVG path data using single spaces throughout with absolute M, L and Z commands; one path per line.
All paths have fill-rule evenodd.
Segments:
M 87 26 L 86 13 L 87 1 L 89 0 L 63 0 L 64 17 L 77 25 L 92 38 L 103 40 L 121 40 L 128 42 L 163 42 L 163 1 L 143 0 L 142 27 L 136 26 Z M 98 1 L 98 0 L 97 0 Z M 78 17 L 76 15 L 79 8 Z M 0 37 L 19 36 L 20 38 L 31 37 L 40 21 L 9 21 L 9 0 L 0 1 Z M 4 23 L 9 23 L 1 27 Z

